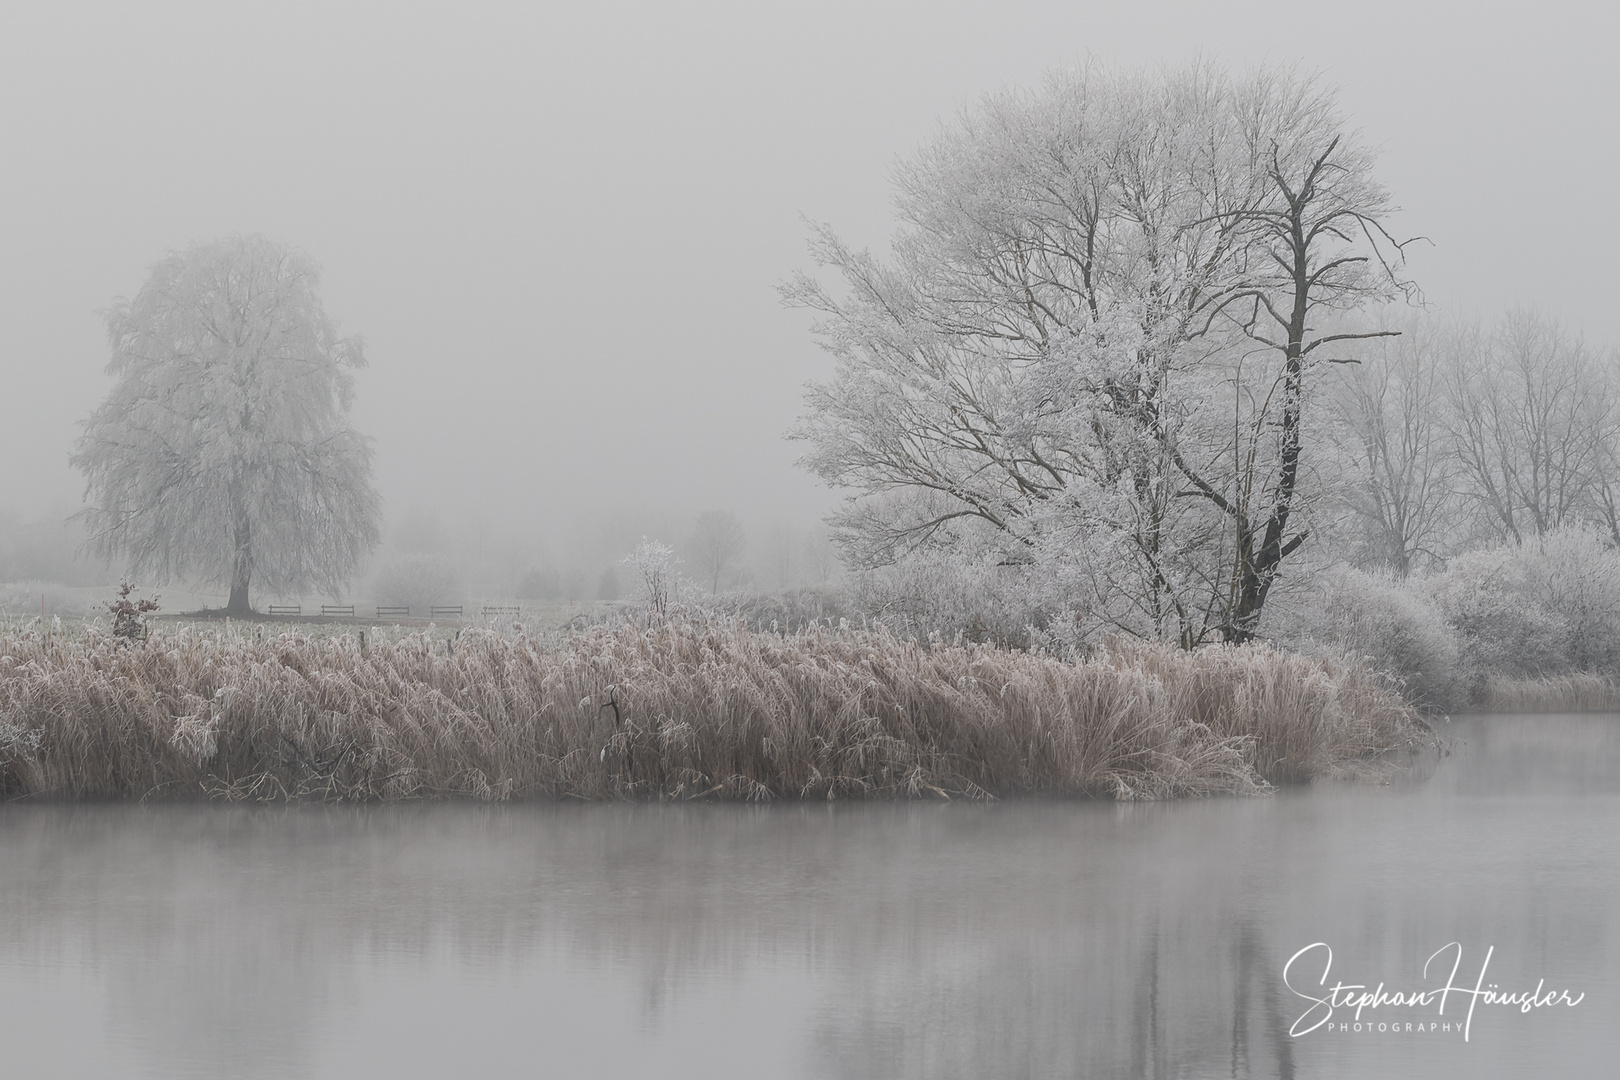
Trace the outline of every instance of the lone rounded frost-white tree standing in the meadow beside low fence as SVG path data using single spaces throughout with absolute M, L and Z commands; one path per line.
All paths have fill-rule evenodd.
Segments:
M 84 421 L 91 547 L 131 572 L 337 594 L 379 536 L 369 440 L 348 426 L 361 342 L 316 266 L 264 236 L 168 254 L 107 316 L 115 384 Z

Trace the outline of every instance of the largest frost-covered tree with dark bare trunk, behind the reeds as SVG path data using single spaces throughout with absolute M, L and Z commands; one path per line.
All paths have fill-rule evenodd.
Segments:
M 797 434 L 855 492 L 846 554 L 988 552 L 1137 633 L 1252 636 L 1335 322 L 1403 288 L 1372 165 L 1286 71 L 1081 68 L 964 112 L 897 170 L 891 259 L 823 227 L 842 290 L 786 288 L 838 359 Z

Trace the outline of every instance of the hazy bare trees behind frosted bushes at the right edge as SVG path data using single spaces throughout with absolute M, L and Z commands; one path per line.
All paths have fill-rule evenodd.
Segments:
M 1620 544 L 1620 358 L 1534 311 L 1416 316 L 1332 397 L 1362 565 L 1406 576 L 1576 526 Z

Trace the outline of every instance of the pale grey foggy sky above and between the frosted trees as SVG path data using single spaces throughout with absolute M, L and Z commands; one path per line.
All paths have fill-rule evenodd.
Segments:
M 1597 3 L 13 5 L 0 507 L 78 504 L 97 311 L 165 251 L 298 244 L 366 337 L 390 517 L 831 507 L 782 439 L 829 372 L 800 215 L 881 246 L 891 164 L 1053 65 L 1301 62 L 1382 146 L 1439 304 L 1620 342 L 1620 18 Z

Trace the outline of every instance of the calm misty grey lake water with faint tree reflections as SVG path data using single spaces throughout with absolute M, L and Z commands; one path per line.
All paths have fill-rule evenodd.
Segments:
M 0 1072 L 1607 1075 L 1620 717 L 1443 733 L 1388 787 L 1256 800 L 6 805 Z M 1458 942 L 1458 986 L 1494 949 L 1484 988 L 1586 997 L 1294 1038 L 1314 942 L 1330 984 L 1434 989 Z

